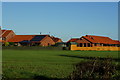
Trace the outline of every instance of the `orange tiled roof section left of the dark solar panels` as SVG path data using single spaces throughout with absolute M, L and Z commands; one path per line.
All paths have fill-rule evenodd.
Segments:
M 12 39 L 8 40 L 8 42 L 20 42 L 24 40 L 31 40 L 35 35 L 15 35 Z

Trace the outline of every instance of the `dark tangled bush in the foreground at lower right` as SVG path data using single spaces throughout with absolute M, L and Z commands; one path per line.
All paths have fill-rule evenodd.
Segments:
M 104 60 L 96 58 L 95 60 L 80 62 L 75 65 L 75 69 L 69 76 L 69 80 L 110 80 L 120 77 L 116 74 L 116 68 L 117 66 L 113 64 L 110 58 Z

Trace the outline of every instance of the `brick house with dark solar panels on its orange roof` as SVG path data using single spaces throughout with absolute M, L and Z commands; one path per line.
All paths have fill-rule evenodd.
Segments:
M 49 35 L 15 35 L 8 42 L 14 42 L 16 45 L 29 45 L 29 46 L 49 46 L 54 45 L 55 42 Z

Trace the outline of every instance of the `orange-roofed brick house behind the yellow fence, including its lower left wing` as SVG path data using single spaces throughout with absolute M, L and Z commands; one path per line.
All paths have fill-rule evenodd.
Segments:
M 68 42 L 76 42 L 78 47 L 120 46 L 120 41 L 109 37 L 86 35 L 81 38 L 70 39 Z

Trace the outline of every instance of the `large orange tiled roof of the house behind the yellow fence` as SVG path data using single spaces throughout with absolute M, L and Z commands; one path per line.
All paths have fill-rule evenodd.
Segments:
M 86 36 L 82 36 L 82 37 L 87 39 L 88 41 L 90 41 L 92 43 L 118 44 L 118 42 L 112 40 L 109 37 L 93 36 L 93 35 L 86 35 Z

